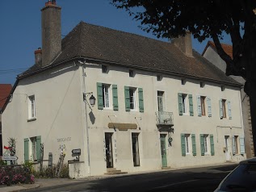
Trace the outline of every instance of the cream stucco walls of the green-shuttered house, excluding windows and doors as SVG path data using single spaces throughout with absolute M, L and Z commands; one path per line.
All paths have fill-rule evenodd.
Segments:
M 111 133 L 111 167 L 129 173 L 162 169 L 163 166 L 178 168 L 220 164 L 246 158 L 246 154 L 241 152 L 240 144 L 240 140 L 244 138 L 244 130 L 239 87 L 225 86 L 225 90 L 221 90 L 223 85 L 216 82 L 190 78 L 182 85 L 182 77 L 141 69 L 132 69 L 134 77 L 129 77 L 129 68 L 106 66 L 107 73 L 103 73 L 102 65 L 94 62 L 84 65 L 69 63 L 19 80 L 2 114 L 3 144 L 7 144 L 10 137 L 17 140 L 16 156 L 19 157 L 19 164 L 24 162 L 24 140 L 40 136 L 40 142 L 44 144 L 44 160 L 48 160 L 48 153 L 52 152 L 53 164 L 57 164 L 61 153 L 65 153 L 64 162 L 68 163 L 75 158 L 72 157 L 72 150 L 81 148 L 80 161 L 69 165 L 71 177 L 102 175 L 107 173 L 106 133 Z M 161 75 L 161 81 L 157 81 L 157 75 Z M 200 82 L 204 82 L 204 87 L 200 87 Z M 97 105 L 97 83 L 109 86 L 109 107 L 103 110 L 99 110 Z M 113 109 L 113 85 L 117 87 L 118 111 Z M 135 90 L 134 110 L 125 109 L 124 86 Z M 139 88 L 143 90 L 143 112 L 139 110 Z M 157 126 L 157 91 L 163 93 L 163 111 L 173 113 L 174 131 L 171 131 L 170 125 Z M 83 101 L 83 93 L 90 92 L 96 98 L 95 106 Z M 189 112 L 179 115 L 179 93 L 192 95 L 193 116 Z M 35 119 L 28 118 L 28 98 L 31 95 L 35 96 Z M 88 100 L 90 94 L 86 96 Z M 199 116 L 197 96 L 211 98 L 210 117 L 206 101 L 205 115 Z M 220 99 L 231 103 L 230 119 L 228 106 L 226 118 L 220 119 Z M 132 124 L 136 125 L 136 129 L 114 129 L 109 127 L 109 123 Z M 137 133 L 136 152 L 139 154 L 139 164 L 136 166 L 133 161 L 132 133 Z M 195 136 L 193 143 L 192 134 Z M 202 134 L 208 136 L 208 152 L 204 152 L 204 155 L 201 154 Z M 188 152 L 185 156 L 182 135 L 188 136 Z M 166 165 L 162 163 L 162 136 L 166 144 Z M 172 142 L 169 143 L 170 137 Z M 234 137 L 237 138 L 237 147 L 233 143 Z M 210 144 L 213 144 L 213 154 Z M 225 152 L 226 145 L 229 146 L 229 151 Z M 237 148 L 235 153 L 234 147 Z M 31 144 L 29 148 L 31 159 Z M 193 155 L 195 149 L 196 154 Z M 48 165 L 48 162 L 44 161 L 44 165 Z

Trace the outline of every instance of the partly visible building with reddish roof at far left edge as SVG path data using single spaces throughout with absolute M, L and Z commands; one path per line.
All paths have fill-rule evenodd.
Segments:
M 10 84 L 0 84 L 0 111 L 6 102 L 11 90 Z M 0 156 L 2 156 L 2 114 L 0 113 Z

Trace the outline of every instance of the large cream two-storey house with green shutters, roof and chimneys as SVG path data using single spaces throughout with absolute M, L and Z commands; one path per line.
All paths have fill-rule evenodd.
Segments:
M 45 165 L 65 154 L 70 177 L 246 158 L 241 84 L 191 35 L 168 43 L 81 22 L 61 40 L 61 7 L 41 11 L 42 49 L 2 110 L 18 163 L 39 164 L 40 144 Z

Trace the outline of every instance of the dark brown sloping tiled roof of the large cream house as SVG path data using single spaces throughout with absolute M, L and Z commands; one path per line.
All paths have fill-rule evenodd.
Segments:
M 194 50 L 193 57 L 185 56 L 169 42 L 153 40 L 107 27 L 81 22 L 65 36 L 61 46 L 61 54 L 51 65 L 59 65 L 61 62 L 81 56 L 135 69 L 153 70 L 158 73 L 171 73 L 241 86 Z M 42 69 L 40 65 L 33 65 L 19 78 L 40 69 Z

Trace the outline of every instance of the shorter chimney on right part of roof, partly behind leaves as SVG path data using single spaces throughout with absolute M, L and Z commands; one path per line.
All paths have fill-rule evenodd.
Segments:
M 176 47 L 178 47 L 186 56 L 193 56 L 191 32 L 187 31 L 187 35 L 180 36 L 172 40 Z

